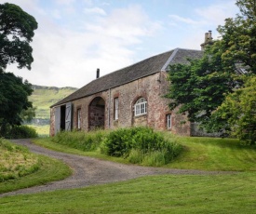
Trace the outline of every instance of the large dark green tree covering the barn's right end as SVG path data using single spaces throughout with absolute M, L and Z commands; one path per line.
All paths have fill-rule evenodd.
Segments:
M 256 74 L 256 0 L 238 0 L 236 5 L 241 14 L 218 27 L 222 39 L 207 46 L 202 59 L 169 66 L 170 109 L 179 106 L 180 113 L 187 112 L 190 121 L 209 131 L 234 130 L 228 119 L 232 112 L 212 113 L 228 94 L 244 86 L 244 79 L 237 76 Z

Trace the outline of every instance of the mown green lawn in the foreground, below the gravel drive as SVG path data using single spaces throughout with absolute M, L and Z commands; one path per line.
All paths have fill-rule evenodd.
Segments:
M 140 178 L 0 199 L 1 213 L 256 213 L 256 174 Z

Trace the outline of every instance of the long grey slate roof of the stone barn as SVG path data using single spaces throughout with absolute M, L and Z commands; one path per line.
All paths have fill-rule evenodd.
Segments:
M 98 79 L 88 83 L 85 87 L 81 87 L 73 94 L 67 96 L 63 100 L 58 101 L 51 107 L 64 104 L 66 102 L 88 97 L 92 94 L 108 90 L 110 88 L 119 87 L 142 77 L 167 71 L 168 64 L 188 63 L 187 59 L 198 59 L 202 57 L 201 50 L 176 48 L 168 52 L 158 54 L 146 60 L 141 60 L 126 68 L 117 70 L 111 74 L 106 74 Z

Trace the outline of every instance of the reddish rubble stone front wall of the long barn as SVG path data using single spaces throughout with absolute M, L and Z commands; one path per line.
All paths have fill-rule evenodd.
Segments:
M 168 92 L 168 81 L 165 72 L 152 74 L 141 79 L 129 82 L 123 86 L 111 88 L 101 93 L 88 96 L 73 102 L 73 128 L 77 127 L 77 109 L 81 109 L 81 129 L 88 131 L 89 106 L 101 98 L 104 100 L 104 128 L 149 126 L 155 129 L 167 129 L 167 114 L 171 114 L 172 127 L 170 131 L 175 134 L 190 135 L 190 124 L 186 121 L 186 115 L 176 114 L 177 111 L 170 111 L 168 99 L 164 95 Z M 143 97 L 147 100 L 147 114 L 134 115 L 135 102 Z M 115 98 L 119 100 L 119 117 L 115 120 Z M 51 110 L 54 112 L 54 110 Z M 91 115 L 90 115 L 91 116 Z M 51 117 L 51 120 L 54 119 Z M 54 122 L 51 122 L 51 135 L 54 133 Z

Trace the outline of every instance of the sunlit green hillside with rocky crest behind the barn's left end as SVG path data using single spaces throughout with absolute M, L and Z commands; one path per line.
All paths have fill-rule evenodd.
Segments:
M 29 100 L 36 107 L 34 124 L 48 124 L 49 107 L 77 90 L 75 87 L 42 87 L 35 85 L 33 89 L 34 92 Z

